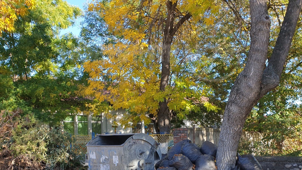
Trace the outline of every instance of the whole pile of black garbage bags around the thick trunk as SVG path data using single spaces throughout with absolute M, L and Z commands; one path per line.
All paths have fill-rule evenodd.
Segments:
M 205 141 L 199 148 L 191 140 L 176 143 L 162 159 L 155 164 L 156 170 L 216 170 L 217 145 Z M 234 170 L 262 170 L 253 155 L 237 155 Z

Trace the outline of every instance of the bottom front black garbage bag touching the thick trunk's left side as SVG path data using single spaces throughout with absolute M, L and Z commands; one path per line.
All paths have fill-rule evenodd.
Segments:
M 216 170 L 215 159 L 212 155 L 200 155 L 195 161 L 195 170 Z

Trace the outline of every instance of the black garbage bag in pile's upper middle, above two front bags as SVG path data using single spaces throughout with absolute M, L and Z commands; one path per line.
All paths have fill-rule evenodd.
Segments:
M 195 160 L 198 158 L 198 156 L 202 155 L 202 153 L 199 151 L 199 147 L 195 143 L 188 142 L 185 142 L 182 145 L 180 153 L 188 157 L 193 164 L 195 164 Z

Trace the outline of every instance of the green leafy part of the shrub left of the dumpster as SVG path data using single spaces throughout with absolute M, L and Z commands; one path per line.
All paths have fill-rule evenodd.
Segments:
M 84 156 L 75 155 L 71 151 L 71 142 L 67 132 L 33 127 L 13 134 L 10 150 L 14 157 L 25 156 L 27 160 L 41 163 L 47 169 L 80 167 L 84 163 Z

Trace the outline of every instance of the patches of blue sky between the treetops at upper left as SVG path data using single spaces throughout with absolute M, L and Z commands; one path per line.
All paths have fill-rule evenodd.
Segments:
M 91 0 L 90 1 L 88 1 L 88 0 L 66 0 L 66 1 L 70 5 L 79 7 L 81 10 L 83 10 L 83 12 L 84 12 L 84 8 L 83 8 L 84 4 L 86 4 L 87 2 L 91 2 Z M 83 18 L 77 19 L 73 27 L 69 27 L 65 30 L 61 30 L 61 35 L 65 34 L 67 32 L 72 32 L 73 35 L 79 36 L 80 31 L 81 31 L 81 29 L 80 29 L 81 21 L 83 21 Z

